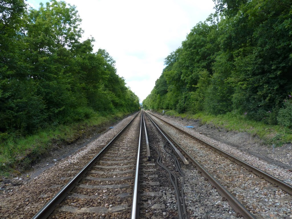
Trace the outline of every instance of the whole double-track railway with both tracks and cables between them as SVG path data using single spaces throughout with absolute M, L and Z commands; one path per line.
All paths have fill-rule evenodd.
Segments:
M 138 113 L 33 219 L 289 218 L 289 184 L 206 145 Z

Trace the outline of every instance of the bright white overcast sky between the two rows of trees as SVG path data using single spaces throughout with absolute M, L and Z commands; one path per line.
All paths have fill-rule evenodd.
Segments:
M 27 0 L 34 8 L 45 0 Z M 83 39 L 95 39 L 116 60 L 117 73 L 144 100 L 175 51 L 199 21 L 214 12 L 212 0 L 67 0 L 82 19 Z

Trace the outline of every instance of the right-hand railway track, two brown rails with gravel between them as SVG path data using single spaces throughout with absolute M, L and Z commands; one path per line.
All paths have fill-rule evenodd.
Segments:
M 172 137 L 171 141 L 196 166 L 205 179 L 216 187 L 223 199 L 229 201 L 239 215 L 244 218 L 291 218 L 292 186 L 290 184 L 153 114 L 151 117 L 164 129 L 164 133 L 169 138 Z M 183 148 L 180 145 L 183 145 Z M 223 191 L 225 188 L 228 190 L 227 193 Z M 234 197 L 242 206 L 236 204 L 237 200 Z M 243 206 L 248 211 L 244 210 Z

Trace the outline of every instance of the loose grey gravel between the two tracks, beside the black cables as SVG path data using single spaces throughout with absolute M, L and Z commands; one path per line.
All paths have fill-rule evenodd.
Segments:
M 149 128 L 152 131 L 151 134 L 148 134 L 150 137 L 151 135 L 159 136 L 156 137 L 157 139 L 154 142 L 155 145 L 159 145 L 159 150 L 161 156 L 163 156 L 164 164 L 168 167 L 172 166 L 171 168 L 174 168 L 173 159 L 169 159 L 169 155 L 164 152 L 164 138 L 161 137 L 153 125 L 150 126 L 150 122 L 147 122 L 146 124 L 148 125 L 147 129 Z M 185 174 L 185 203 L 189 219 L 204 218 L 205 216 L 208 218 L 224 219 L 238 218 L 236 216 L 236 212 L 231 208 L 228 202 L 222 200 L 222 196 L 217 192 L 217 190 L 213 189 L 212 185 L 205 181 L 204 177 L 199 174 L 198 171 L 192 167 L 192 165 L 181 167 Z M 178 179 L 181 184 L 182 178 L 178 177 Z M 169 192 L 166 193 L 165 190 L 163 190 L 162 193 L 168 194 Z

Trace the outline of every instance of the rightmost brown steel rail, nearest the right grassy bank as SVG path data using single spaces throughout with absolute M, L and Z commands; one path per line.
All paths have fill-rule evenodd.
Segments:
M 148 112 L 149 113 L 149 112 Z M 178 129 L 179 131 L 189 135 L 190 137 L 194 138 L 195 140 L 203 143 L 204 145 L 210 147 L 212 150 L 222 154 L 224 157 L 230 159 L 231 161 L 237 163 L 239 166 L 242 166 L 244 167 L 245 169 L 247 169 L 249 172 L 252 172 L 256 175 L 258 175 L 261 179 L 265 179 L 266 181 L 268 181 L 269 183 L 273 184 L 275 187 L 279 187 L 281 188 L 282 190 L 284 190 L 285 192 L 289 193 L 292 195 L 292 185 L 288 184 L 288 183 L 285 183 L 284 181 L 280 180 L 279 178 L 277 177 L 274 177 L 272 175 L 270 175 L 269 173 L 251 165 L 251 164 L 248 164 L 247 162 L 237 158 L 237 157 L 234 157 L 233 155 L 221 150 L 220 148 L 218 147 L 215 147 L 214 145 L 211 145 L 209 144 L 208 142 L 204 141 L 204 140 L 201 140 L 200 138 L 197 138 L 195 137 L 194 135 L 188 133 L 187 131 L 184 131 L 180 128 L 178 128 L 177 126 L 155 116 L 154 114 L 150 113 L 151 115 L 153 115 L 154 117 L 164 121 L 166 124 L 169 124 L 171 126 L 173 126 L 174 128 Z

